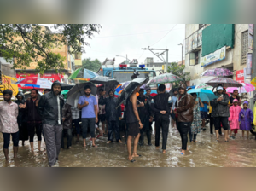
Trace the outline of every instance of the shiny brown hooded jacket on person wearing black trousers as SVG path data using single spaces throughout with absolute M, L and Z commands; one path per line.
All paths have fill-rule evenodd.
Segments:
M 175 103 L 176 106 L 176 112 L 177 112 L 177 121 L 178 122 L 192 122 L 193 121 L 193 105 L 194 100 L 193 96 L 187 93 L 186 91 L 186 85 L 180 84 L 179 88 L 182 88 L 185 90 L 183 95 L 180 95 L 177 98 L 177 101 Z

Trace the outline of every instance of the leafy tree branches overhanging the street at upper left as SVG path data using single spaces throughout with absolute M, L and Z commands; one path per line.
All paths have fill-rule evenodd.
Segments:
M 50 49 L 67 45 L 70 54 L 85 52 L 84 46 L 90 46 L 85 40 L 98 33 L 100 25 L 54 24 L 55 32 L 38 24 L 0 24 L 0 54 L 9 62 L 15 58 L 14 67 L 26 69 L 31 62 L 38 62 L 36 70 L 44 73 L 55 69 L 61 72 L 64 57 L 52 53 Z

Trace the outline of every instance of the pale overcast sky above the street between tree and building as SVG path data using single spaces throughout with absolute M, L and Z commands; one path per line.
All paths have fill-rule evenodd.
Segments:
M 185 38 L 184 24 L 144 24 L 144 25 L 102 25 L 101 32 L 89 39 L 90 47 L 85 47 L 86 53 L 82 58 L 98 59 L 101 62 L 106 58 L 115 58 L 115 64 L 128 59 L 138 59 L 144 63 L 146 57 L 154 57 L 154 62 L 160 59 L 149 50 L 142 48 L 169 49 L 168 61 L 181 61 L 182 47 Z M 164 55 L 166 59 L 166 55 Z

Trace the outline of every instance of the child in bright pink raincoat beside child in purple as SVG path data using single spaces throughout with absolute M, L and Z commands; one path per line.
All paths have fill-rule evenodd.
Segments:
M 235 136 L 237 130 L 239 130 L 239 113 L 241 111 L 241 107 L 238 106 L 238 100 L 233 101 L 233 106 L 230 107 L 230 137 L 232 137 L 232 131 L 234 131 Z M 235 138 L 233 136 L 233 138 Z

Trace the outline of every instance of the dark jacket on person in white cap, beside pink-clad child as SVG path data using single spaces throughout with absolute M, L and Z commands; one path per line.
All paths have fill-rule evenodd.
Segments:
M 220 97 L 221 94 L 218 94 L 218 92 L 214 93 L 215 96 Z M 228 107 L 230 98 L 227 94 L 222 94 L 223 95 L 223 100 L 222 101 L 217 101 L 218 98 L 214 99 L 211 101 L 211 106 L 212 106 L 212 118 L 216 117 L 230 117 L 230 109 Z

